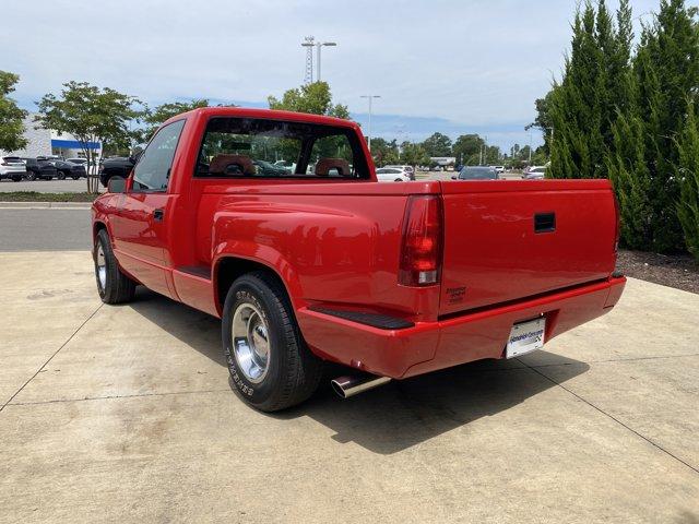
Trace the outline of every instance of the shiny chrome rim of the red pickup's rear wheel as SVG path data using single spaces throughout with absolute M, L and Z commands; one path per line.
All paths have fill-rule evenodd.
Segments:
M 269 329 L 260 310 L 249 302 L 233 314 L 233 354 L 245 378 L 257 384 L 270 369 Z

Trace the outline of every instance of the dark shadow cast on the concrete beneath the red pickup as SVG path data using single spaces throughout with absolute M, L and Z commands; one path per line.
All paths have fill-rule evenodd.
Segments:
M 187 306 L 140 290 L 130 307 L 182 343 L 222 366 L 220 321 Z M 557 366 L 562 383 L 590 368 L 579 360 L 540 350 L 547 366 Z M 436 371 L 368 391 L 342 401 L 330 379 L 346 373 L 329 366 L 327 380 L 306 403 L 266 416 L 277 419 L 310 417 L 331 429 L 340 443 L 354 442 L 368 451 L 392 454 L 474 420 L 506 412 L 557 383 L 537 369 L 514 360 L 482 360 Z M 230 402 L 242 402 L 232 396 Z

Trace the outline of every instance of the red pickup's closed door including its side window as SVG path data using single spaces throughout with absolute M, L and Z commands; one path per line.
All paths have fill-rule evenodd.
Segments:
M 168 193 L 173 158 L 185 120 L 157 132 L 133 168 L 131 189 L 111 218 L 117 257 L 122 267 L 144 286 L 173 296 L 167 285 Z

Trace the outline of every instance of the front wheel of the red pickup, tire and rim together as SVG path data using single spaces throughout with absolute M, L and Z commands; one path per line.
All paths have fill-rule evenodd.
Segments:
M 119 269 L 119 263 L 111 250 L 111 241 L 106 229 L 100 229 L 97 234 L 93 258 L 97 293 L 99 293 L 102 301 L 105 303 L 125 303 L 133 300 L 135 282 Z

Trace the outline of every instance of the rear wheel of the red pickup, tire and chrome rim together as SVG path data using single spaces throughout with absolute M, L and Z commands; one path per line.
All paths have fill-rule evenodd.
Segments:
M 285 409 L 318 389 L 323 362 L 304 343 L 286 290 L 269 273 L 233 283 L 222 338 L 232 382 L 257 409 Z

